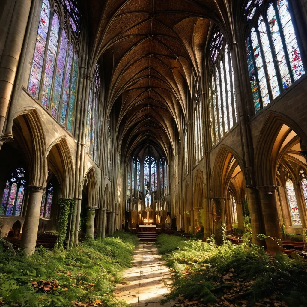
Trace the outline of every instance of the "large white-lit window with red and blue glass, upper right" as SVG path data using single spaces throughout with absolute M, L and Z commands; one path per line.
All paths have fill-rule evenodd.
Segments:
M 305 74 L 288 0 L 245 0 L 246 59 L 255 111 Z

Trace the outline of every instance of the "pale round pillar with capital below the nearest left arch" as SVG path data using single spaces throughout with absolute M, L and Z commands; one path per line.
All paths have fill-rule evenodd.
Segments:
M 45 189 L 45 187 L 38 185 L 28 186 L 28 205 L 21 234 L 21 247 L 27 255 L 34 254 L 35 251 L 39 217 L 41 214 L 41 200 Z

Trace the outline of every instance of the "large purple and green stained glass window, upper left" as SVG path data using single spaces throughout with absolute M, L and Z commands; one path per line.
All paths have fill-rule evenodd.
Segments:
M 62 19 L 61 16 L 64 16 Z M 43 0 L 28 92 L 73 132 L 78 80 L 80 14 L 75 0 Z

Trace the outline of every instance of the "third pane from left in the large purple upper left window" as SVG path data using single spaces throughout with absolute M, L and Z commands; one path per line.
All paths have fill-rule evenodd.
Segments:
M 56 64 L 56 76 L 54 80 L 53 99 L 52 99 L 52 107 L 51 107 L 51 115 L 55 119 L 57 119 L 58 111 L 59 111 L 64 69 L 65 69 L 66 50 L 67 50 L 67 37 L 63 29 L 61 43 L 60 43 L 60 51 L 59 51 L 58 60 Z

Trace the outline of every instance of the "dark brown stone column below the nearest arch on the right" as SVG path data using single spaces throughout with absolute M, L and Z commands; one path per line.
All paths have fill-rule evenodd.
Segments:
M 280 223 L 278 216 L 278 195 L 276 185 L 263 185 L 257 187 L 259 190 L 260 203 L 263 214 L 264 229 L 266 235 L 282 238 Z

